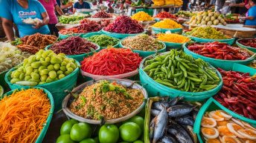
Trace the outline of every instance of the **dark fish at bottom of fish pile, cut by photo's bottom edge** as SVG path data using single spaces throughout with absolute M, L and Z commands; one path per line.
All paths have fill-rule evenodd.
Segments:
M 170 126 L 167 127 L 167 132 L 175 136 L 179 143 L 193 143 L 191 136 L 179 124 L 172 122 Z

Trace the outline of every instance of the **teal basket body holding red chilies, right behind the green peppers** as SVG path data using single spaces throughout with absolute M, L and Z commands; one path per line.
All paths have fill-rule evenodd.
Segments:
M 255 59 L 256 53 L 254 53 L 249 59 L 246 60 L 223 60 L 223 59 L 214 59 L 214 58 L 209 58 L 206 56 L 199 55 L 197 53 L 193 53 L 191 50 L 188 50 L 187 48 L 188 43 L 183 44 L 183 49 L 184 52 L 187 53 L 188 55 L 193 56 L 195 59 L 202 59 L 204 61 L 209 62 L 211 65 L 214 67 L 220 67 L 223 70 L 231 70 L 233 67 L 233 64 L 249 64 Z

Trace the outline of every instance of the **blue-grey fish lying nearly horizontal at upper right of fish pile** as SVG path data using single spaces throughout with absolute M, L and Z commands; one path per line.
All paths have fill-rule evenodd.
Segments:
M 180 105 L 179 104 L 179 105 L 169 107 L 167 109 L 167 112 L 168 112 L 169 117 L 176 118 L 176 117 L 185 116 L 188 113 L 191 113 L 193 108 L 195 108 L 195 107 L 185 106 L 185 105 Z

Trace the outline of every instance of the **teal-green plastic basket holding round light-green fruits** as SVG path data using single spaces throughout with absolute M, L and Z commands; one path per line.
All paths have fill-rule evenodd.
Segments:
M 47 83 L 47 84 L 39 84 L 36 85 L 36 87 L 42 87 L 46 90 L 50 91 L 52 96 L 54 97 L 54 107 L 55 112 L 61 109 L 61 104 L 63 102 L 63 99 L 68 94 L 66 90 L 71 91 L 73 87 L 77 84 L 77 74 L 79 72 L 80 63 L 77 62 L 77 68 L 68 76 L 65 76 L 63 79 L 57 80 L 55 82 Z M 9 85 L 11 90 L 15 90 L 17 88 L 22 87 L 28 87 L 28 86 L 22 86 L 19 84 L 12 84 L 10 83 L 10 74 L 13 70 L 16 70 L 15 67 L 10 69 L 4 76 L 4 81 Z

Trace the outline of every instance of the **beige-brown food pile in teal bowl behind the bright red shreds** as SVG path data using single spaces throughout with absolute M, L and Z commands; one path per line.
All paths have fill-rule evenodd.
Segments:
M 148 36 L 147 34 L 140 34 L 137 36 L 127 37 L 121 43 L 124 47 L 132 50 L 155 51 L 164 48 L 164 44 Z

